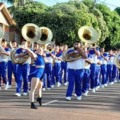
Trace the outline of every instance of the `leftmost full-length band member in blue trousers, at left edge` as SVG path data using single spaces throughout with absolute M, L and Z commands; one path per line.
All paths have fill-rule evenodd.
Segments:
M 3 39 L 1 41 L 1 50 L 0 51 L 0 89 L 1 89 L 1 77 L 3 78 L 3 83 L 4 83 L 4 89 L 8 89 L 8 83 L 7 83 L 7 78 L 6 78 L 6 73 L 7 73 L 7 56 L 10 55 L 10 50 L 7 47 L 7 41 Z

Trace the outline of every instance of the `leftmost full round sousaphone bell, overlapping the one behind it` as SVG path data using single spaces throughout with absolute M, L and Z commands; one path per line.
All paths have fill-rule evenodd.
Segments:
M 22 28 L 22 36 L 29 42 L 36 42 L 40 39 L 39 27 L 33 23 L 25 24 Z

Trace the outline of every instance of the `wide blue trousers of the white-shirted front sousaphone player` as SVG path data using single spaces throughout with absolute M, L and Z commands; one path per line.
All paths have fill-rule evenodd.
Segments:
M 77 96 L 82 95 L 82 80 L 83 80 L 84 70 L 74 70 L 68 69 L 68 88 L 66 92 L 66 97 L 71 97 L 75 85 L 75 93 Z

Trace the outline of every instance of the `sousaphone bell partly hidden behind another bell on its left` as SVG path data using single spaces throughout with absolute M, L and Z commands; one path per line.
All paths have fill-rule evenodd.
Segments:
M 51 42 L 51 40 L 53 38 L 53 34 L 52 34 L 52 31 L 49 28 L 40 27 L 40 33 L 41 33 L 41 37 L 37 41 L 38 44 L 47 44 L 47 43 Z

